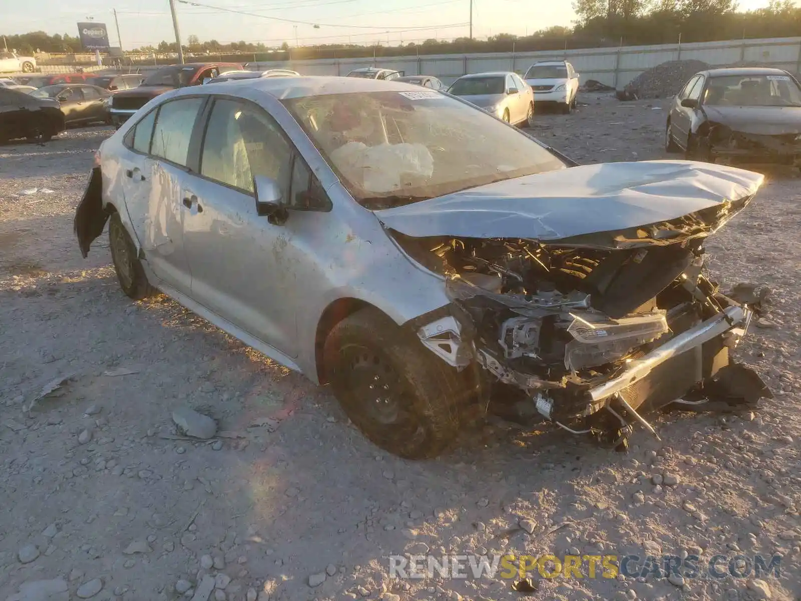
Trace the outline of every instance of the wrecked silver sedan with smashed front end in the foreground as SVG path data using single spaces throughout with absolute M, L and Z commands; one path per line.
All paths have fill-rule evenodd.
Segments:
M 392 453 L 440 454 L 490 409 L 620 447 L 671 402 L 770 395 L 729 358 L 759 295 L 724 295 L 703 250 L 762 183 L 578 166 L 405 83 L 261 79 L 138 111 L 100 147 L 75 232 L 87 256 L 109 220 L 129 296 L 157 288 L 330 383 Z

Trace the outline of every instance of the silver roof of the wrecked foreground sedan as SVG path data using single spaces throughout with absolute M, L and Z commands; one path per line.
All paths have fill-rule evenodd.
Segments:
M 336 77 L 331 75 L 300 77 L 262 77 L 256 79 L 232 79 L 214 86 L 202 86 L 204 92 L 235 94 L 238 88 L 262 91 L 276 99 L 304 98 L 306 96 L 353 94 L 364 92 L 418 91 L 420 88 L 397 79 L 363 79 L 358 77 Z M 197 87 L 182 88 L 184 93 L 197 93 Z

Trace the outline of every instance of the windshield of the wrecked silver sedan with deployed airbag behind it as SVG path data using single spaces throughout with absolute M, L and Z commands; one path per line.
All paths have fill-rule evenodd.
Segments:
M 433 90 L 282 102 L 348 192 L 370 209 L 566 167 L 521 131 Z

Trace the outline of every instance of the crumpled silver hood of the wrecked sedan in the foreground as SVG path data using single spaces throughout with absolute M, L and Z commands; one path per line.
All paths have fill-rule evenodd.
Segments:
M 560 240 L 658 224 L 753 196 L 763 175 L 683 160 L 582 165 L 376 211 L 406 236 Z

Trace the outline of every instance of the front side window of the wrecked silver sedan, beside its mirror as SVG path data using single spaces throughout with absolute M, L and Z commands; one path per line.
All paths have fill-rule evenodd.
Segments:
M 201 175 L 248 193 L 253 177 L 265 175 L 286 198 L 291 166 L 292 148 L 269 115 L 249 103 L 215 101 L 203 136 Z

